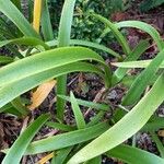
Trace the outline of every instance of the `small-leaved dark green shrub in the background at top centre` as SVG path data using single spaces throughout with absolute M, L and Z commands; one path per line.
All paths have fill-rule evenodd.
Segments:
M 58 24 L 61 12 L 62 1 L 49 0 L 49 9 L 51 13 L 51 22 L 54 24 L 54 34 L 58 35 Z M 124 11 L 127 9 L 128 2 L 124 3 L 122 0 L 78 0 L 74 9 L 74 19 L 72 23 L 72 38 L 97 40 L 102 34 L 102 28 L 104 24 L 101 24 L 96 19 L 87 16 L 87 13 L 94 11 L 96 13 L 103 14 L 105 17 L 109 17 L 112 13 Z M 92 33 L 96 31 L 96 33 Z M 105 40 L 110 39 L 108 36 Z

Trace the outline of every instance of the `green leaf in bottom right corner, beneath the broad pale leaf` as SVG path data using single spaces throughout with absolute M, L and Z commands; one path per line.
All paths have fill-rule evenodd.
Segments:
M 118 145 L 106 153 L 128 164 L 163 164 L 164 160 L 147 151 L 129 145 Z

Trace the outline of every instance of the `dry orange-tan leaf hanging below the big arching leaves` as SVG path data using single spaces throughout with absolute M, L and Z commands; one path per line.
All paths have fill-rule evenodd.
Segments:
M 32 93 L 32 104 L 28 106 L 28 108 L 33 110 L 36 107 L 38 107 L 48 96 L 49 92 L 56 85 L 56 83 L 57 82 L 52 80 L 39 85 L 37 90 L 34 93 Z

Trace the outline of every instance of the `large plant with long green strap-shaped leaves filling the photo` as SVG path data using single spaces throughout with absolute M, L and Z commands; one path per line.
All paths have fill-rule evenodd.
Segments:
M 14 4 L 20 7 L 20 1 L 17 0 L 15 2 Z M 21 95 L 44 82 L 57 78 L 58 98 L 56 116 L 58 117 L 58 121 L 46 122 L 49 119 L 49 115 L 39 116 L 39 118 L 33 121 L 32 125 L 20 134 L 10 149 L 2 150 L 2 152 L 7 153 L 2 164 L 19 163 L 23 155 L 50 151 L 55 151 L 54 154 L 56 154 L 51 163 L 57 164 L 79 164 L 86 161 L 86 163 L 98 164 L 104 153 L 107 156 L 120 159 L 129 164 L 138 164 L 136 156 L 138 156 L 140 163 L 163 164 L 163 145 L 154 132 L 163 128 L 164 120 L 153 116 L 153 113 L 164 101 L 164 92 L 162 90 L 164 86 L 164 74 L 163 72 L 159 72 L 159 69 L 163 68 L 164 43 L 157 31 L 143 22 L 125 21 L 114 24 L 98 14 L 93 12 L 87 13 L 87 17 L 93 17 L 106 26 L 102 35 L 103 37 L 105 37 L 107 33 L 114 35 L 122 48 L 122 55 L 126 56 L 124 57 L 96 43 L 71 39 L 71 25 L 75 0 L 66 0 L 60 19 L 58 40 L 51 40 L 52 28 L 48 3 L 46 0 L 43 2 L 45 5 L 42 9 L 44 17 L 42 17 L 40 23 L 43 32 L 43 35 L 40 35 L 37 33 L 39 26 L 37 21 L 36 26 L 34 25 L 34 27 L 36 27 L 35 30 L 37 30 L 36 32 L 23 16 L 21 10 L 17 10 L 16 5 L 10 0 L 0 0 L 0 11 L 7 15 L 23 34 L 21 38 L 10 38 L 0 42 L 1 47 L 16 45 L 23 49 L 17 49 L 21 54 L 20 58 L 0 58 L 1 62 L 5 65 L 0 69 L 0 113 L 12 113 L 19 117 L 28 115 L 28 113 L 31 113 L 26 108 L 28 102 L 25 102 Z M 36 13 L 34 13 L 34 17 L 35 14 Z M 125 36 L 119 32 L 121 27 L 136 27 L 144 31 L 153 38 L 160 52 L 153 60 L 133 61 L 138 60 L 150 47 L 149 40 L 141 40 L 134 49 L 130 49 Z M 108 55 L 116 57 L 118 61 L 124 60 L 124 62 L 113 63 L 119 67 L 113 72 L 105 60 L 97 52 L 85 48 L 86 46 L 106 51 Z M 121 103 L 116 106 L 117 113 L 114 114 L 110 124 L 108 120 L 104 121 L 102 117 L 106 112 L 110 110 L 113 106 L 105 103 L 98 104 L 77 99 L 72 92 L 70 93 L 70 97 L 66 95 L 68 73 L 96 73 L 103 79 L 105 87 L 112 89 L 118 83 L 124 83 L 125 78 L 130 79 L 131 77 L 127 75 L 127 71 L 129 68 L 136 67 L 145 69 L 131 80 L 132 84 L 130 84 Z M 143 91 L 150 85 L 150 79 L 152 79 L 152 89 L 142 97 Z M 75 125 L 71 126 L 63 122 L 66 101 L 71 102 Z M 94 116 L 90 122 L 85 122 L 79 105 L 97 109 L 97 115 Z M 129 106 L 132 107 L 131 110 L 127 113 Z M 59 129 L 63 131 L 63 133 L 30 143 L 44 124 Z M 138 131 L 151 132 L 153 140 L 157 144 L 161 157 L 133 148 L 132 145 L 122 144 L 124 141 L 134 136 Z

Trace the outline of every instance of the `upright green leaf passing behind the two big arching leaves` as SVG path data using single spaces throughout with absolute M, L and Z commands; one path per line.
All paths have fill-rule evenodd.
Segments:
M 60 24 L 59 24 L 59 36 L 58 47 L 66 47 L 70 45 L 71 25 L 73 20 L 75 0 L 66 0 L 62 7 Z M 67 75 L 59 77 L 57 79 L 57 94 L 66 95 L 67 91 Z M 63 119 L 65 101 L 57 99 L 57 117 Z

